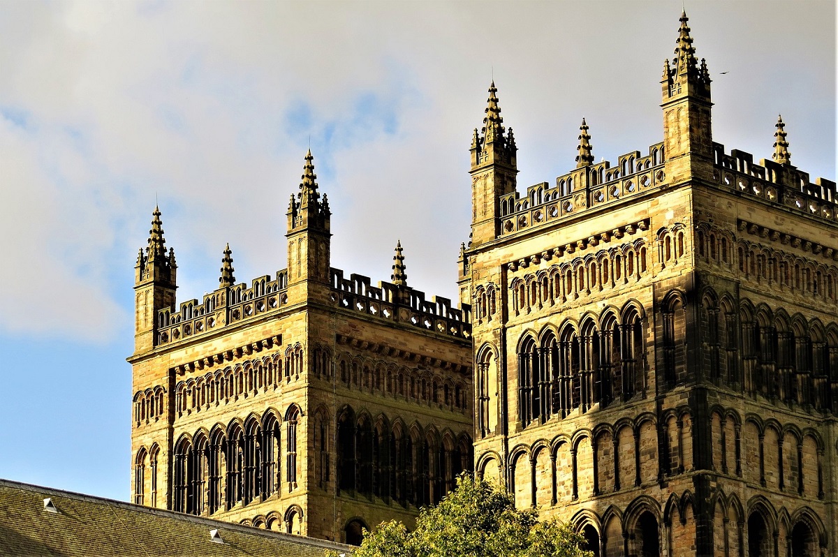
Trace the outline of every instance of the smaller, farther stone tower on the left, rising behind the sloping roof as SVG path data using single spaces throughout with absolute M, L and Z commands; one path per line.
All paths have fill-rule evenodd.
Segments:
M 287 268 L 175 305 L 154 209 L 137 258 L 135 503 L 360 542 L 411 524 L 473 462 L 470 308 L 329 266 L 331 211 L 311 152 L 287 210 Z

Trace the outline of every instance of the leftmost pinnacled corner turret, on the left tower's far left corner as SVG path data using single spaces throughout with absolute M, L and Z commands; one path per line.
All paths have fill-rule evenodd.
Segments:
M 160 208 L 154 207 L 148 245 L 137 255 L 134 266 L 134 351 L 142 353 L 154 348 L 157 338 L 158 312 L 172 307 L 177 290 L 178 265 L 174 250 L 166 250 Z

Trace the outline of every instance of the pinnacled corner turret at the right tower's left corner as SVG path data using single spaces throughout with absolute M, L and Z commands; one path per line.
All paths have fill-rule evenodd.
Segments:
M 471 142 L 472 244 L 494 240 L 500 232 L 499 198 L 515 191 L 518 174 L 515 137 L 504 130 L 497 88 L 489 86 L 483 128 L 474 130 Z

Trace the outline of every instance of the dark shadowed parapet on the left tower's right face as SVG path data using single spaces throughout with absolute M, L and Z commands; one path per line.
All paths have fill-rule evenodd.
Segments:
M 471 307 L 451 307 L 451 300 L 435 296 L 430 302 L 425 293 L 410 286 L 396 286 L 379 281 L 372 286 L 370 277 L 331 270 L 331 301 L 338 307 L 362 312 L 387 321 L 403 322 L 414 327 L 458 338 L 471 338 Z

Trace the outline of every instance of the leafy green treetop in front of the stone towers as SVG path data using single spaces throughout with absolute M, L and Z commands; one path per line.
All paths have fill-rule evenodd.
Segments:
M 593 557 L 582 549 L 582 535 L 566 524 L 540 522 L 537 514 L 463 474 L 436 507 L 422 508 L 415 530 L 395 520 L 381 523 L 365 532 L 352 557 Z

